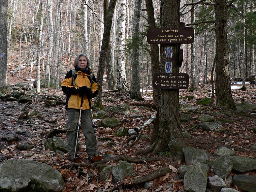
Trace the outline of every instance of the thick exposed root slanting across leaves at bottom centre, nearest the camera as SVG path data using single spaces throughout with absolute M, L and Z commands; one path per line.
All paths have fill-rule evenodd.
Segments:
M 170 171 L 171 171 L 171 169 L 169 167 L 164 167 L 164 168 L 161 168 L 161 169 L 157 169 L 157 170 L 151 172 L 149 175 L 146 175 L 146 176 L 141 177 L 141 178 L 134 179 L 130 183 L 131 183 L 131 185 L 136 185 L 136 184 L 139 184 L 139 183 L 149 182 L 149 181 L 152 181 L 156 178 L 164 176 L 166 173 L 168 173 Z

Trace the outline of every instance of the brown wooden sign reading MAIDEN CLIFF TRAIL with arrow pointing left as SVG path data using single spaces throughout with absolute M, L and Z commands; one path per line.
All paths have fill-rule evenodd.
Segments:
M 156 89 L 188 89 L 187 73 L 155 73 L 153 87 Z

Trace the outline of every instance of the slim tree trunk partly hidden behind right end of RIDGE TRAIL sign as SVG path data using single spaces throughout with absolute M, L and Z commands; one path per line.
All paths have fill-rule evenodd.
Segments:
M 194 3 L 194 0 L 191 0 L 191 3 Z M 194 5 L 191 5 L 191 23 L 194 23 L 195 14 L 194 14 Z M 191 63 L 190 63 L 190 88 L 189 90 L 196 90 L 196 78 L 195 78 L 195 42 L 191 43 Z

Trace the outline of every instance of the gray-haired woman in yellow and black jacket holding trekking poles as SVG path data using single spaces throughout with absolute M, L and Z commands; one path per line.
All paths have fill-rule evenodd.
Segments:
M 88 159 L 92 158 L 96 154 L 95 150 L 95 138 L 94 129 L 92 126 L 91 111 L 92 100 L 98 93 L 98 84 L 92 70 L 89 68 L 90 62 L 88 57 L 83 53 L 79 54 L 74 61 L 75 73 L 73 70 L 68 71 L 64 81 L 61 84 L 62 91 L 67 94 L 66 110 L 68 116 L 68 152 L 70 161 L 75 161 L 79 158 L 77 154 L 74 154 L 76 146 L 77 126 L 79 119 L 79 112 L 82 103 L 81 121 L 82 130 L 86 140 L 86 151 L 88 153 Z M 78 145 L 77 145 L 78 146 Z

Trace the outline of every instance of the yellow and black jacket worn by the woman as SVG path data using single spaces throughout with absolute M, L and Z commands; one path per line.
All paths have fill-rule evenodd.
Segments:
M 98 94 L 98 84 L 94 75 L 91 79 L 91 73 L 92 71 L 89 67 L 83 71 L 76 69 L 74 86 L 72 86 L 72 70 L 67 72 L 65 79 L 61 84 L 63 93 L 67 94 L 66 109 L 80 109 L 82 97 L 77 93 L 78 87 L 87 86 L 88 88 L 91 88 L 91 91 L 93 92 L 92 98 Z M 82 110 L 90 108 L 92 108 L 92 100 L 88 99 L 86 95 L 84 95 Z

